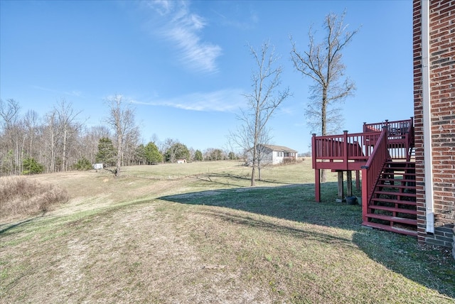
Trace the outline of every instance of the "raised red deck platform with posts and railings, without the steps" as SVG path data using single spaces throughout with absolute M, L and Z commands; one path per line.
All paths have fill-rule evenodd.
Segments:
M 313 134 L 312 161 L 315 170 L 315 197 L 321 201 L 321 169 L 362 171 L 363 203 L 370 201 L 382 166 L 392 159 L 410 160 L 414 146 L 414 121 L 385 121 L 363 124 L 363 133 L 316 136 Z

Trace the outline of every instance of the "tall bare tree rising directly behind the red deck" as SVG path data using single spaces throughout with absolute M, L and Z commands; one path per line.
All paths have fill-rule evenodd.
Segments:
M 296 70 L 314 81 L 311 85 L 310 101 L 306 109 L 306 117 L 311 128 L 319 126 L 322 136 L 331 134 L 341 126 L 341 109 L 334 107 L 353 94 L 355 85 L 348 77 L 344 77 L 346 66 L 341 62 L 341 51 L 348 45 L 358 29 L 350 32 L 343 23 L 346 12 L 341 16 L 329 13 L 324 19 L 323 27 L 326 37 L 316 43 L 315 32 L 309 30 L 309 50 L 304 53 L 296 49 L 291 38 L 291 59 Z M 323 171 L 321 181 L 326 181 Z

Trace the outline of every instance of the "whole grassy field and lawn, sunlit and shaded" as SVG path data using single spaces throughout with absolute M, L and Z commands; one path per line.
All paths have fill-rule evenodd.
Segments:
M 311 162 L 234 161 L 30 176 L 70 200 L 0 217 L 0 303 L 455 303 L 449 250 L 314 202 Z

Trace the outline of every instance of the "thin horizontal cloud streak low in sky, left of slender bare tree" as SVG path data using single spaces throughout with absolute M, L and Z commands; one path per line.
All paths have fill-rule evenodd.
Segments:
M 134 104 L 174 107 L 204 112 L 237 112 L 245 104 L 240 89 L 224 89 L 215 92 L 192 93 L 171 99 L 155 99 L 150 102 L 132 101 Z

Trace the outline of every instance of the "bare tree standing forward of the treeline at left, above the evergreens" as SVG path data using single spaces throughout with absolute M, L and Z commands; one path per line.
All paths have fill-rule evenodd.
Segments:
M 124 143 L 126 139 L 137 132 L 137 126 L 134 124 L 134 110 L 122 99 L 122 95 L 115 94 L 113 97 L 109 97 L 107 105 L 109 117 L 106 122 L 114 131 L 114 136 L 117 139 L 117 162 L 114 175 L 119 176 L 124 158 Z

